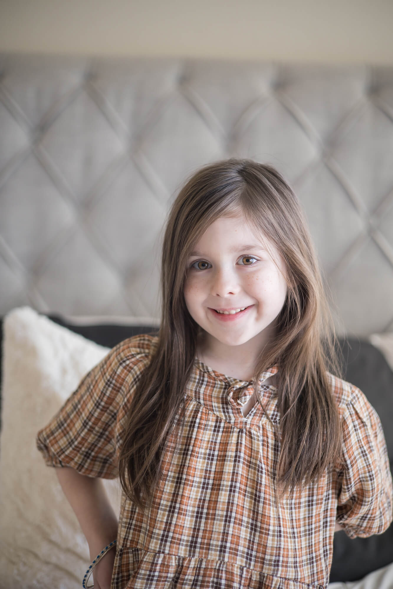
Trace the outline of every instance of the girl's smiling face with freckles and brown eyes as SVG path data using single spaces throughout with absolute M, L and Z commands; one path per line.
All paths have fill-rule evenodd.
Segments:
M 254 338 L 253 348 L 259 353 L 274 337 L 271 324 L 284 305 L 287 283 L 283 260 L 273 244 L 269 246 L 273 257 L 241 211 L 214 221 L 195 244 L 187 263 L 185 303 L 211 336 L 207 337 L 213 348 L 218 342 L 238 346 Z

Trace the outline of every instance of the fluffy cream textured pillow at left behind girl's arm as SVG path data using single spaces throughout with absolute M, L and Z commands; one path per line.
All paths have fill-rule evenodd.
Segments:
M 4 319 L 1 589 L 81 587 L 89 548 L 35 436 L 108 352 L 30 307 L 14 309 Z M 119 513 L 119 479 L 104 480 L 104 485 Z

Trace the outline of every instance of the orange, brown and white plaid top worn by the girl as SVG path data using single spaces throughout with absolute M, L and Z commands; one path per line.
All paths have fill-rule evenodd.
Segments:
M 131 337 L 81 380 L 38 432 L 47 465 L 117 477 L 126 415 L 156 343 L 153 335 Z M 258 383 L 277 426 L 276 388 L 263 381 L 278 369 Z M 195 359 L 184 434 L 169 438 L 152 508 L 143 513 L 122 501 L 111 589 L 322 589 L 336 521 L 351 537 L 386 530 L 393 488 L 381 422 L 356 386 L 329 378 L 342 417 L 345 464 L 276 505 L 280 441 L 260 403 L 247 417 L 241 412 L 253 381 Z

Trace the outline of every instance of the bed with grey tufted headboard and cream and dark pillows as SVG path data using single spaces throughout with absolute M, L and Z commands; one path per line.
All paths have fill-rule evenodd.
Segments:
M 158 328 L 166 214 L 211 161 L 271 163 L 299 195 L 392 466 L 392 154 L 393 67 L 0 55 L 1 588 L 81 586 L 87 544 L 34 436 Z M 392 563 L 392 526 L 336 532 L 330 587 L 393 587 Z

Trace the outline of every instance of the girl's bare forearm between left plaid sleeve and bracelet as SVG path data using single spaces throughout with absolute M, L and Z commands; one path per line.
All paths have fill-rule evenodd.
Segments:
M 100 478 L 86 477 L 74 468 L 55 468 L 61 488 L 73 508 L 90 548 L 90 556 L 117 537 L 117 517 Z

